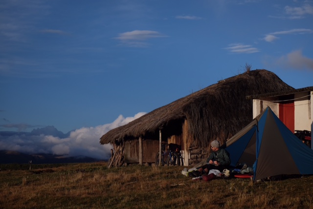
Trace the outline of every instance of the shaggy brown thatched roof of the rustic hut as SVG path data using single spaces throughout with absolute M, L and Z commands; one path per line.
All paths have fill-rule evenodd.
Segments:
M 226 140 L 252 120 L 252 104 L 248 95 L 293 90 L 268 70 L 252 70 L 219 81 L 146 115 L 114 128 L 104 134 L 101 144 L 115 140 L 159 139 L 182 132 L 182 123 L 188 121 L 188 133 L 198 146 L 208 146 L 213 139 Z

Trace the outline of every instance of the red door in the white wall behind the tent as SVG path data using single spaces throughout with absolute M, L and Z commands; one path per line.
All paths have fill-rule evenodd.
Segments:
M 279 119 L 294 133 L 294 103 L 279 104 Z

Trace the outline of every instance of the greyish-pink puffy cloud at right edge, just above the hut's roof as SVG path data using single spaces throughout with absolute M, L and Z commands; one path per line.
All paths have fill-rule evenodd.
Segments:
M 305 57 L 301 50 L 292 51 L 280 58 L 273 58 L 267 64 L 295 70 L 313 70 L 313 59 Z

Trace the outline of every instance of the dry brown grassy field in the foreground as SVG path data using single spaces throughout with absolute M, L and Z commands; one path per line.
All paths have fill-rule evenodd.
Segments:
M 194 181 L 183 167 L 0 165 L 1 209 L 313 208 L 313 176 Z

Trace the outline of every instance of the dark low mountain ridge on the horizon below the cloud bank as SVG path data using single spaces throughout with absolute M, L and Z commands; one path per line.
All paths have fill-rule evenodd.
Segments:
M 101 161 L 99 159 L 75 156 L 68 157 L 53 154 L 25 154 L 17 151 L 0 150 L 0 164 L 56 164 L 56 163 L 92 163 Z

